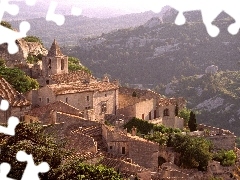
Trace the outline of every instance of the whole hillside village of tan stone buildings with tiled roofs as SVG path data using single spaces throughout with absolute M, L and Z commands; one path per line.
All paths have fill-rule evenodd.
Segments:
M 78 157 L 112 167 L 124 178 L 240 178 L 239 159 L 227 167 L 211 160 L 206 171 L 184 169 L 178 166 L 181 154 L 173 147 L 144 138 L 136 127 L 124 128 L 133 118 L 138 118 L 182 130 L 183 135 L 204 137 L 212 142 L 213 151 L 233 150 L 238 155 L 236 136 L 228 130 L 198 124 L 197 131 L 184 131 L 184 119 L 176 115 L 176 108 L 180 111 L 187 105 L 184 98 L 166 98 L 151 90 L 122 87 L 118 80 L 110 81 L 106 75 L 98 79 L 81 70 L 69 72 L 68 57 L 56 40 L 49 51 L 44 52 L 41 63 L 30 68 L 22 66 L 38 81 L 39 89 L 22 94 L 0 77 L 0 98 L 11 105 L 7 111 L 0 112 L 1 123 L 6 123 L 10 116 L 17 116 L 26 123 L 41 123 L 49 133 L 66 138 L 68 147 L 74 148 Z M 2 58 L 10 57 L 2 55 Z M 22 62 L 7 61 L 7 66 L 21 67 L 23 59 Z M 159 159 L 164 162 L 160 163 Z

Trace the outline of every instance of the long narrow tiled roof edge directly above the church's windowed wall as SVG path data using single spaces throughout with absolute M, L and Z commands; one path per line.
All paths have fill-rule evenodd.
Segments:
M 90 82 L 90 83 L 83 83 L 83 82 L 70 82 L 66 84 L 52 84 L 48 85 L 48 87 L 56 94 L 73 94 L 79 92 L 89 92 L 89 91 L 110 91 L 118 89 L 118 86 L 114 83 L 109 82 Z

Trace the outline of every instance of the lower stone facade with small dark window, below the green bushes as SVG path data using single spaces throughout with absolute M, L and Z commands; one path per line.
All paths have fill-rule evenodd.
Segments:
M 159 145 L 116 129 L 102 126 L 102 136 L 110 154 L 125 156 L 132 162 L 151 169 L 158 168 Z

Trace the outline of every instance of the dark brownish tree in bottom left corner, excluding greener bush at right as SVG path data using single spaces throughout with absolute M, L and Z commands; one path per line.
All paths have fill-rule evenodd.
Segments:
M 11 164 L 9 177 L 18 179 L 21 177 L 26 163 L 16 161 L 16 154 L 22 150 L 32 154 L 36 164 L 46 161 L 53 169 L 60 166 L 68 152 L 63 149 L 64 143 L 57 142 L 52 136 L 44 133 L 44 128 L 40 124 L 20 123 L 15 129 L 15 136 L 1 134 L 0 162 Z M 41 174 L 40 177 L 48 179 L 48 173 Z

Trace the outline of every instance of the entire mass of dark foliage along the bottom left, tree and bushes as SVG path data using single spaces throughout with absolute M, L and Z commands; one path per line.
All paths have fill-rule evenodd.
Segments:
M 9 177 L 19 179 L 25 170 L 26 163 L 16 161 L 16 154 L 23 150 L 32 154 L 36 164 L 43 161 L 50 166 L 50 171 L 40 174 L 45 180 L 80 180 L 80 179 L 112 179 L 120 180 L 120 175 L 113 169 L 104 166 L 93 166 L 82 163 L 82 160 L 67 160 L 72 152 L 65 149 L 65 140 L 56 140 L 47 135 L 45 127 L 40 124 L 20 123 L 15 130 L 15 136 L 1 134 L 0 162 L 11 164 Z M 65 163 L 64 163 L 65 162 Z

